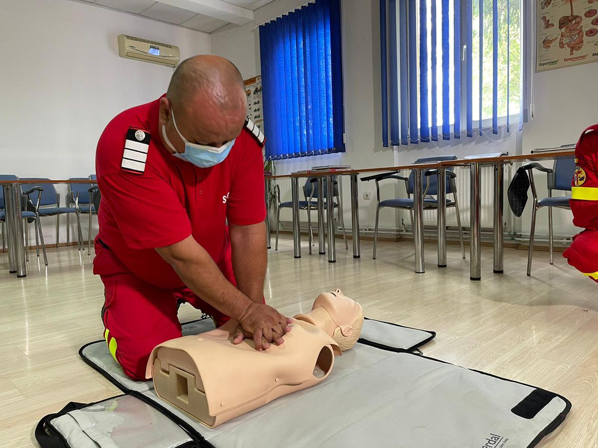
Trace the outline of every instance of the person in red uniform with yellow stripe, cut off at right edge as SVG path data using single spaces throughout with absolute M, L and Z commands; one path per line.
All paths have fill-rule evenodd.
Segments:
M 598 124 L 588 127 L 575 146 L 571 183 L 573 224 L 585 228 L 563 252 L 567 262 L 598 282 Z

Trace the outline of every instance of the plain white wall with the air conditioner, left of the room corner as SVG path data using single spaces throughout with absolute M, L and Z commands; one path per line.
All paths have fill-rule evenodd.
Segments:
M 1 9 L 0 172 L 20 177 L 94 173 L 108 121 L 166 91 L 172 69 L 118 57 L 118 35 L 178 45 L 182 58 L 211 53 L 207 33 L 83 2 L 2 0 Z

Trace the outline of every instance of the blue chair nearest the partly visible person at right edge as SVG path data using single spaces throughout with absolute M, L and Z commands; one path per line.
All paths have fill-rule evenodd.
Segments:
M 527 252 L 527 275 L 532 275 L 532 251 L 533 238 L 536 233 L 536 214 L 541 207 L 548 207 L 548 244 L 550 246 L 550 264 L 553 260 L 553 208 L 565 208 L 571 210 L 569 206 L 570 196 L 555 196 L 553 190 L 571 191 L 571 180 L 575 173 L 575 158 L 556 159 L 553 168 L 543 167 L 538 162 L 531 162 L 523 165 L 523 169 L 529 173 L 529 183 L 532 187 L 533 208 L 532 208 L 532 227 L 529 231 L 529 250 Z M 533 170 L 547 173 L 548 197 L 538 200 L 536 184 L 533 179 Z

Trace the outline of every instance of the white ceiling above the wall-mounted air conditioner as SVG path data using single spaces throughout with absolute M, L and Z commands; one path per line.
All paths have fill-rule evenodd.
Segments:
M 254 19 L 253 11 L 273 0 L 81 0 L 206 33 Z

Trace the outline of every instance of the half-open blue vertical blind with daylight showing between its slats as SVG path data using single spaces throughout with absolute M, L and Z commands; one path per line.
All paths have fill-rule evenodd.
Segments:
M 522 19 L 522 0 L 380 0 L 383 145 L 521 129 Z

